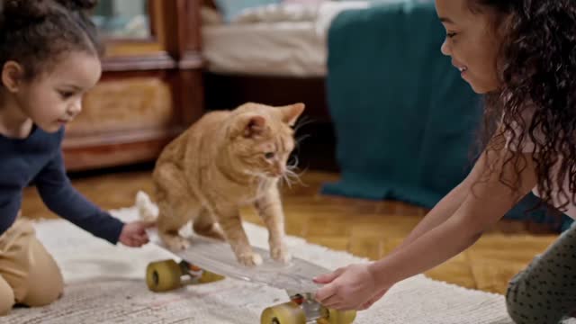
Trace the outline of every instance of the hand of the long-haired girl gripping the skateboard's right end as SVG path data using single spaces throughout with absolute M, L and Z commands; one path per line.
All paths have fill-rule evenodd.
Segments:
M 369 264 L 350 265 L 314 278 L 326 284 L 316 293 L 316 300 L 335 310 L 365 310 L 378 301 L 388 288 L 376 286 Z

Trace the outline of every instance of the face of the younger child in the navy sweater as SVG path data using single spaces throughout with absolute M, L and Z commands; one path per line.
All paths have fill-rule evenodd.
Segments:
M 82 98 L 100 79 L 100 59 L 76 51 L 58 60 L 49 72 L 34 77 L 15 94 L 23 113 L 40 129 L 58 131 L 82 111 Z

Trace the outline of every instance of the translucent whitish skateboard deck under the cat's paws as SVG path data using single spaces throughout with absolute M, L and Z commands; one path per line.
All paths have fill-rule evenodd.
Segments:
M 150 242 L 166 248 L 158 238 L 156 229 L 148 230 L 148 236 Z M 266 284 L 284 289 L 289 293 L 315 293 L 320 285 L 315 284 L 312 278 L 330 271 L 296 257 L 293 257 L 287 264 L 283 264 L 272 259 L 268 250 L 259 247 L 252 248 L 263 259 L 263 263 L 259 266 L 239 264 L 229 243 L 212 238 L 194 236 L 191 238 L 190 247 L 185 250 L 168 251 L 175 257 L 180 257 L 214 274 Z

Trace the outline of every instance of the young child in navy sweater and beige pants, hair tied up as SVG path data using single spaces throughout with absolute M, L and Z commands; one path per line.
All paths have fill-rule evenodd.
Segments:
M 63 291 L 56 262 L 30 221 L 18 217 L 28 184 L 50 210 L 95 237 L 130 247 L 148 242 L 150 224 L 125 224 L 88 202 L 63 163 L 64 127 L 102 72 L 101 46 L 85 14 L 95 3 L 0 1 L 0 315 L 14 303 L 49 304 Z

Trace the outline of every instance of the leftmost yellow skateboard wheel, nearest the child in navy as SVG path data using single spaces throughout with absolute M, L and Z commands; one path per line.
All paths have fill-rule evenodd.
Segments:
M 166 292 L 180 286 L 182 269 L 174 260 L 152 262 L 146 267 L 146 284 L 152 292 Z

